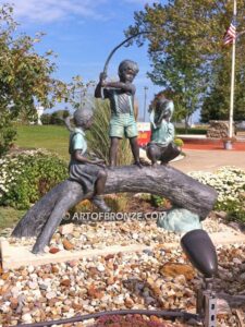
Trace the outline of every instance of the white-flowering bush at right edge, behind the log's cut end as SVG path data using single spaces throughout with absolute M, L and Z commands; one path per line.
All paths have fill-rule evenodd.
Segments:
M 245 222 L 245 171 L 223 167 L 216 173 L 197 171 L 191 175 L 218 192 L 216 209 L 228 213 L 229 219 Z

